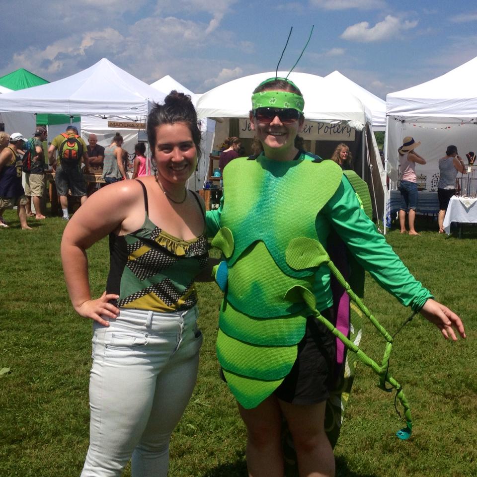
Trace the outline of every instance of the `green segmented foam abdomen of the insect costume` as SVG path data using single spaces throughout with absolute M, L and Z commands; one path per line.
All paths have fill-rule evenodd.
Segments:
M 305 334 L 307 308 L 284 297 L 297 281 L 310 287 L 313 276 L 284 274 L 261 241 L 252 243 L 229 268 L 217 357 L 231 391 L 246 409 L 270 396 L 296 361 L 297 344 Z M 268 287 L 262 287 L 262 283 Z M 233 304 L 229 296 L 234 297 Z

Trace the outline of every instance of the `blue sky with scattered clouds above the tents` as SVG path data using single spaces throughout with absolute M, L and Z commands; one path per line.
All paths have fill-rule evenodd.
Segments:
M 291 68 L 312 24 L 296 71 L 338 70 L 382 98 L 477 56 L 476 0 L 2 0 L 0 76 L 54 81 L 106 57 L 204 92 L 275 70 L 293 26 L 280 65 Z

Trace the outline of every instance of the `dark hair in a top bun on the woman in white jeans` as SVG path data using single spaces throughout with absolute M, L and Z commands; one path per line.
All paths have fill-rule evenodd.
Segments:
M 188 94 L 178 93 L 173 89 L 164 99 L 164 104 L 154 103 L 147 120 L 147 133 L 152 156 L 156 150 L 156 127 L 162 124 L 185 123 L 192 135 L 192 141 L 197 150 L 197 159 L 200 160 L 201 134 L 197 122 L 197 113 Z

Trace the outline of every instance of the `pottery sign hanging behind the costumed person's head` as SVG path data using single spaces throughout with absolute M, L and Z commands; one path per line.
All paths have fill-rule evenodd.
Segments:
M 239 132 L 241 138 L 255 137 L 248 119 L 239 119 Z M 298 134 L 308 141 L 354 141 L 355 129 L 347 124 L 305 121 Z

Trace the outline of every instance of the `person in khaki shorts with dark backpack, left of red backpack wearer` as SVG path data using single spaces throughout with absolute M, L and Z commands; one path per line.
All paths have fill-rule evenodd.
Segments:
M 41 213 L 41 198 L 45 193 L 45 153 L 42 142 L 46 141 L 48 132 L 45 126 L 37 126 L 35 135 L 25 146 L 23 155 L 23 172 L 25 172 L 26 215 L 36 219 L 46 219 Z M 35 214 L 31 212 L 31 199 Z

